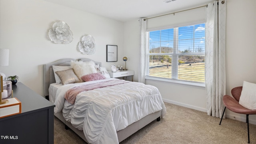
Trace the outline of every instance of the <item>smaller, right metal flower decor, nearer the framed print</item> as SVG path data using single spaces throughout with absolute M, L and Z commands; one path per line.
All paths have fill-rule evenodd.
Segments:
M 78 42 L 78 48 L 83 54 L 94 54 L 95 40 L 91 35 L 83 36 L 82 40 Z

